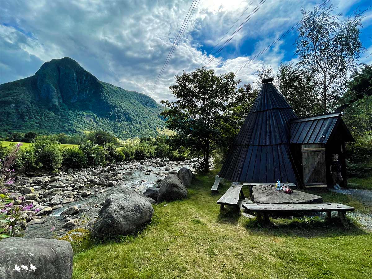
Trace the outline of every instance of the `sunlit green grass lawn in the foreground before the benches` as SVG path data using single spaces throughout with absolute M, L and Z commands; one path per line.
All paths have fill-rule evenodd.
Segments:
M 215 174 L 197 176 L 187 199 L 154 205 L 137 236 L 75 254 L 73 278 L 372 278 L 372 233 L 344 230 L 338 219 L 252 226 L 234 209 L 219 211 L 222 194 L 210 192 Z

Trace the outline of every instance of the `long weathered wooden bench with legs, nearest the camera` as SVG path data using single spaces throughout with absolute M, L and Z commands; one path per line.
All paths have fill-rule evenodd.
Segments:
M 327 212 L 327 218 L 331 218 L 331 212 L 337 211 L 339 213 L 340 221 L 345 228 L 349 228 L 345 218 L 346 211 L 353 211 L 355 208 L 340 203 L 243 203 L 243 208 L 248 211 L 257 212 L 257 220 L 264 224 L 269 224 L 269 212 L 294 212 L 294 211 L 320 211 Z

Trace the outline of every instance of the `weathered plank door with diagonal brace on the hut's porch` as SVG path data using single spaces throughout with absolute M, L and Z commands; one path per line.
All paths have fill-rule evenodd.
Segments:
M 305 188 L 327 187 L 324 144 L 302 144 L 301 150 Z

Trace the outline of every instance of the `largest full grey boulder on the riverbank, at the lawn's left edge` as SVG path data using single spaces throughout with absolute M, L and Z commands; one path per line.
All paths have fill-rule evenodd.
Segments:
M 154 209 L 150 202 L 125 187 L 117 192 L 122 194 L 109 196 L 103 204 L 100 219 L 93 225 L 93 236 L 104 239 L 132 234 L 151 221 Z

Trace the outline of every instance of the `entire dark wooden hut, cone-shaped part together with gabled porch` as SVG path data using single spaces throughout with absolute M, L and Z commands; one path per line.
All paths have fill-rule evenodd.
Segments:
M 262 81 L 220 177 L 241 183 L 294 183 L 302 188 L 331 184 L 331 156 L 339 154 L 346 185 L 345 142 L 354 141 L 341 113 L 299 119 L 272 84 Z

